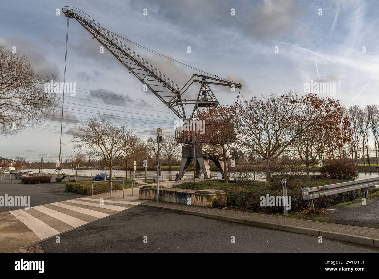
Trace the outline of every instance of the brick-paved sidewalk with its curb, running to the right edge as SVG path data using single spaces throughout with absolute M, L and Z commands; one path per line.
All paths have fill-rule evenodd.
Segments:
M 178 213 L 231 221 L 246 225 L 284 230 L 298 234 L 315 235 L 335 240 L 348 241 L 379 247 L 379 229 L 325 223 L 259 213 L 241 212 L 221 208 L 207 208 L 170 202 L 145 202 L 144 205 L 171 210 Z

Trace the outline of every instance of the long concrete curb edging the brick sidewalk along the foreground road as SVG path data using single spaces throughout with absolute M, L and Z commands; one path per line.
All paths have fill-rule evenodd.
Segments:
M 207 217 L 207 218 L 212 218 L 212 219 L 219 219 L 223 221 L 229 221 L 229 222 L 235 222 L 235 223 L 240 223 L 240 224 L 246 224 L 249 226 L 257 226 L 257 227 L 264 227 L 267 229 L 276 229 L 276 230 L 283 230 L 286 232 L 294 232 L 296 234 L 305 234 L 305 235 L 313 235 L 313 236 L 322 236 L 325 238 L 330 238 L 334 240 L 340 240 L 340 241 L 347 241 L 347 242 L 352 242 L 352 243 L 357 243 L 357 244 L 362 244 L 362 245 L 368 245 L 368 246 L 375 246 L 379 247 L 379 238 L 371 238 L 371 237 L 364 237 L 364 236 L 359 236 L 359 235 L 349 235 L 349 234 L 343 234 L 339 232 L 331 232 L 331 231 L 326 231 L 326 230 L 318 230 L 318 229 L 313 229 L 309 227 L 301 227 L 301 226 L 290 226 L 290 225 L 281 225 L 277 222 L 264 222 L 264 221 L 255 221 L 254 219 L 245 219 L 245 218 L 236 218 L 236 217 L 230 217 L 230 216 L 222 216 L 218 214 L 211 214 L 211 213 L 204 213 L 199 212 L 199 211 L 193 211 L 193 210 L 184 210 L 184 209 L 175 209 L 175 208 L 170 208 L 166 207 L 164 205 L 150 205 L 150 204 L 143 204 L 155 208 L 161 208 L 165 210 L 170 210 L 178 213 L 184 213 L 184 214 L 191 214 L 191 215 L 196 215 L 200 217 Z M 193 207 L 192 207 L 193 208 Z M 211 208 L 209 208 L 211 209 Z M 319 222 L 321 223 L 321 222 Z

